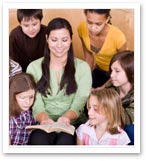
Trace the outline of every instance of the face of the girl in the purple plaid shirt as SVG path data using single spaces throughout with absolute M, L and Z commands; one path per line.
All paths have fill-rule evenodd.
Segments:
M 27 111 L 32 106 L 35 97 L 35 90 L 30 89 L 16 95 L 16 101 L 22 111 Z

